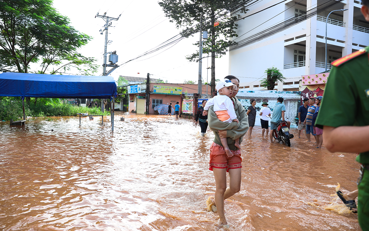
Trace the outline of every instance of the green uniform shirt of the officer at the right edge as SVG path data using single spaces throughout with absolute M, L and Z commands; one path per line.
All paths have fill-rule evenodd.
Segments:
M 369 125 L 368 48 L 363 54 L 332 67 L 315 126 Z M 360 153 L 356 161 L 369 164 L 369 151 Z

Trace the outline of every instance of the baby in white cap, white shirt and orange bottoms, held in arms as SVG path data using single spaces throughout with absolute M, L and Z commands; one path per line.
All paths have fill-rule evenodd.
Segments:
M 229 79 L 222 79 L 220 82 L 218 82 L 215 86 L 215 89 L 218 91 L 219 95 L 209 99 L 204 107 L 203 115 L 206 116 L 210 106 L 214 105 L 214 112 L 219 120 L 227 123 L 231 123 L 233 121 L 238 123 L 238 119 L 234 111 L 234 105 L 230 99 L 230 96 L 233 93 L 233 86 L 235 85 Z M 228 147 L 227 138 L 220 138 L 220 141 L 222 142 L 227 156 L 233 156 Z M 239 145 L 239 139 L 236 140 L 234 146 L 238 149 L 241 149 L 241 146 Z

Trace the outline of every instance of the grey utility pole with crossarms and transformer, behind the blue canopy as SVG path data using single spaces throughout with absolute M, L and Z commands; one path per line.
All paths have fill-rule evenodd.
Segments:
M 114 52 L 114 55 L 116 56 L 116 60 L 113 64 L 113 61 L 111 61 L 110 64 L 106 64 L 106 56 L 107 56 L 107 46 L 108 46 L 108 28 L 111 26 L 111 21 L 115 20 L 118 21 L 119 17 L 122 14 L 120 14 L 117 18 L 113 18 L 113 17 L 108 17 L 106 16 L 106 12 L 103 15 L 99 15 L 99 12 L 97 12 L 96 17 L 99 18 L 103 18 L 105 21 L 105 27 L 104 30 L 100 30 L 100 34 L 103 34 L 103 32 L 105 31 L 105 44 L 104 44 L 104 64 L 103 64 L 103 76 L 107 76 L 109 75 L 111 72 L 113 72 L 116 68 L 119 67 L 119 65 L 116 65 L 115 62 L 118 61 L 118 55 L 116 55 L 116 53 Z M 109 52 L 111 53 L 111 52 Z M 110 61 L 110 55 L 109 55 L 109 61 Z M 110 71 L 106 72 L 106 67 L 113 67 L 112 69 L 110 69 Z M 104 105 L 104 101 L 106 99 L 102 99 L 101 100 L 101 111 L 104 112 L 105 111 L 105 105 Z

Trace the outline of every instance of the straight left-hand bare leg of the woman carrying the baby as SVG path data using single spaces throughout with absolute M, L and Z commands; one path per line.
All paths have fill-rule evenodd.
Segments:
M 215 205 L 217 206 L 217 211 L 221 224 L 226 225 L 224 215 L 224 193 L 227 188 L 227 170 L 226 169 L 216 169 L 213 168 L 213 174 L 215 178 Z

